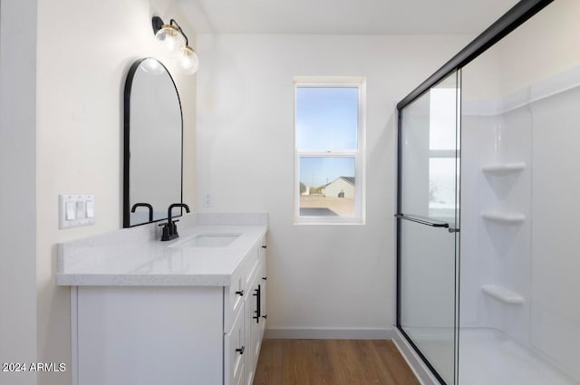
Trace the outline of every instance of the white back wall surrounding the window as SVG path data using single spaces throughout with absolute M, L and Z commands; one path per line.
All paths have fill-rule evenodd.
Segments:
M 469 40 L 198 35 L 198 207 L 208 193 L 206 211 L 268 211 L 270 335 L 391 327 L 394 104 Z M 366 77 L 366 225 L 293 225 L 293 78 L 301 75 Z

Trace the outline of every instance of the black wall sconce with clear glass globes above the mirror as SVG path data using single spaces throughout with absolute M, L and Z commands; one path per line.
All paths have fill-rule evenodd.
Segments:
M 169 24 L 163 23 L 159 16 L 153 16 L 153 34 L 163 42 L 165 51 L 175 59 L 179 70 L 192 75 L 198 71 L 199 59 L 196 52 L 189 46 L 188 36 L 183 33 L 179 24 L 171 19 Z

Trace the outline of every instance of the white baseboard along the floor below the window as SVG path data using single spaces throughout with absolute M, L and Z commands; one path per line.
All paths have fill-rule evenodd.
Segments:
M 266 329 L 266 340 L 391 340 L 391 328 L 386 329 Z

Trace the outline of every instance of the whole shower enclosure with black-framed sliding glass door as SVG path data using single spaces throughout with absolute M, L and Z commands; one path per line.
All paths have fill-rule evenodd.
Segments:
M 579 19 L 522 1 L 397 106 L 397 332 L 425 382 L 580 384 Z

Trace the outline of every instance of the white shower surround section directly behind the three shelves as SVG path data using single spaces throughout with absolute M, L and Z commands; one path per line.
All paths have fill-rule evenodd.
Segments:
M 484 294 L 493 284 L 528 298 L 530 294 L 531 125 L 527 108 L 492 116 L 463 116 L 461 172 L 461 321 L 507 332 L 518 341 L 529 336 L 529 303 L 498 302 Z M 506 176 L 482 168 L 521 162 L 522 171 Z M 498 212 L 526 217 L 501 224 L 482 217 Z

